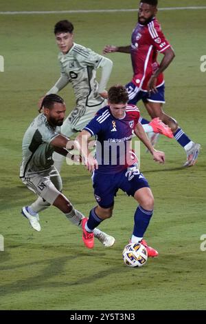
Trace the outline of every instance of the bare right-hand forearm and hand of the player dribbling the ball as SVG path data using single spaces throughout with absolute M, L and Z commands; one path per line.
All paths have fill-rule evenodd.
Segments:
M 146 148 L 148 148 L 148 150 L 150 151 L 150 153 L 153 156 L 154 161 L 159 162 L 159 163 L 164 163 L 165 162 L 164 152 L 157 151 L 157 150 L 155 150 L 155 148 L 153 148 L 141 123 L 139 123 L 139 122 L 137 123 L 134 132 L 135 132 L 135 135 L 140 139 L 140 141 L 142 143 L 144 143 Z

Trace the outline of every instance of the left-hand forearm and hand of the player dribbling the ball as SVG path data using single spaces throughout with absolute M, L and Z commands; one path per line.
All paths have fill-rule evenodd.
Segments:
M 98 169 L 98 161 L 93 158 L 93 154 L 88 149 L 89 139 L 91 138 L 90 132 L 87 130 L 82 130 L 80 134 L 76 137 L 74 141 L 75 147 L 78 148 L 82 156 L 84 165 L 86 166 L 89 172 L 93 172 Z

